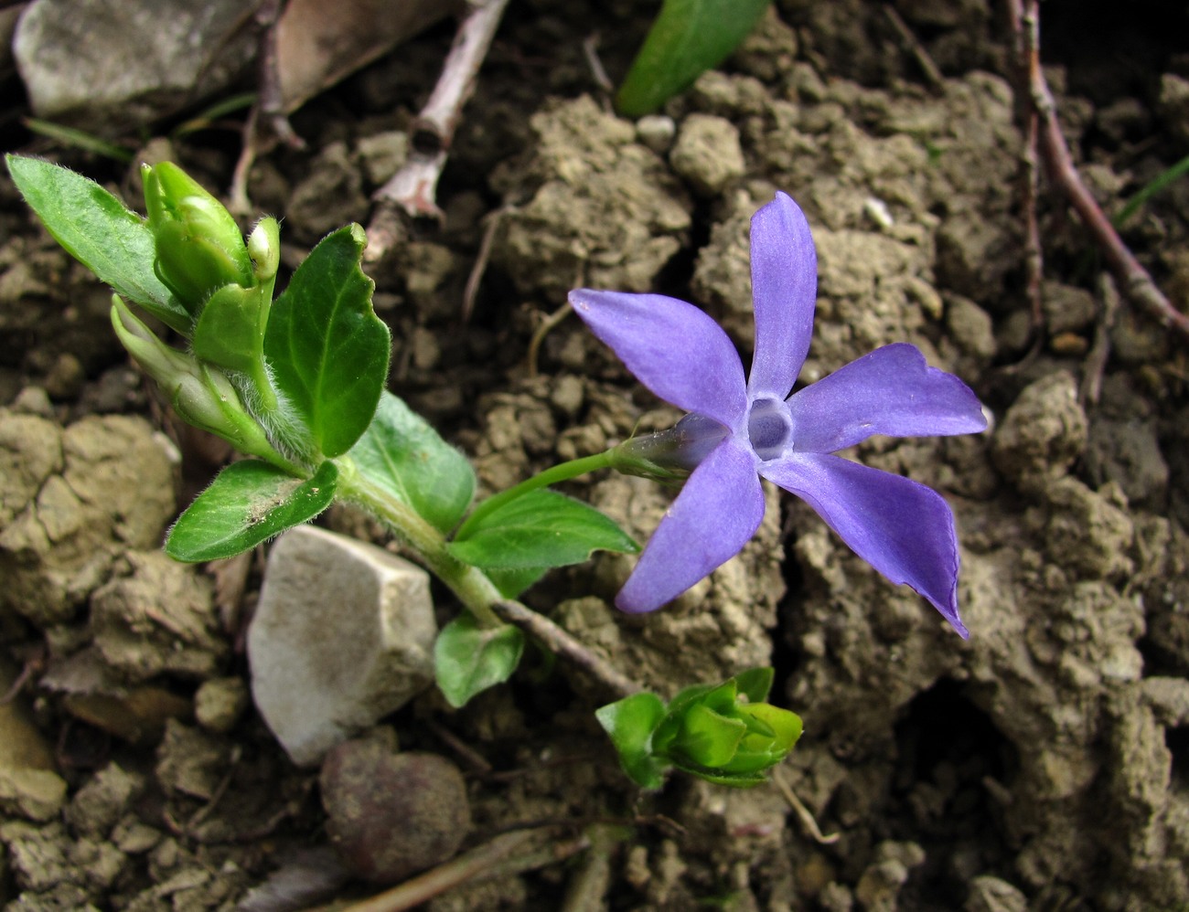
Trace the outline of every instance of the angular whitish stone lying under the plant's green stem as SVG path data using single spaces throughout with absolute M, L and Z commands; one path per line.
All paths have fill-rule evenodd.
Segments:
M 269 555 L 247 632 L 252 697 L 313 766 L 433 680 L 429 575 L 376 545 L 298 526 Z

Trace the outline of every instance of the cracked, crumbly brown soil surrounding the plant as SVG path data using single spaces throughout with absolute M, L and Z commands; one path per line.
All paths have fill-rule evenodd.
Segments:
M 430 692 L 388 722 L 402 747 L 467 774 L 471 843 L 526 821 L 573 822 L 551 831 L 559 846 L 592 821 L 625 826 L 610 848 L 537 859 L 433 908 L 556 908 L 567 887 L 568 908 L 1189 907 L 1187 342 L 1124 302 L 1095 400 L 1088 353 L 1112 290 L 1044 184 L 1046 330 L 1028 354 L 1004 11 L 897 4 L 944 76 L 931 87 L 883 6 L 781 0 L 722 71 L 671 104 L 667 139 L 609 113 L 581 52 L 600 33 L 608 70 L 622 74 L 647 11 L 514 2 L 442 180 L 445 228 L 415 227 L 373 270 L 377 309 L 394 330 L 391 388 L 502 487 L 677 418 L 573 318 L 529 369 L 530 337 L 565 292 L 685 297 L 746 357 L 748 218 L 789 192 L 820 268 L 801 380 L 908 341 L 993 414 L 979 437 L 877 439 L 853 454 L 954 505 L 971 636 L 773 492 L 743 555 L 655 615 L 609 607 L 625 558 L 548 577 L 527 601 L 663 692 L 773 663 L 776 702 L 806 724 L 782 778 L 839 838 L 817 842 L 776 786 L 675 779 L 638 794 L 591 716 L 605 695 L 529 661 L 463 711 Z M 1170 46 L 1187 31 L 1183 5 L 1043 12 L 1067 135 L 1115 213 L 1189 153 L 1189 57 Z M 448 28 L 432 31 L 315 100 L 295 118 L 308 150 L 257 164 L 252 200 L 284 217 L 290 265 L 327 230 L 367 223 L 376 150 L 408 125 L 448 42 Z M 10 141 L 125 180 L 109 162 L 12 131 Z M 212 131 L 170 154 L 226 188 L 237 151 L 234 134 Z M 157 551 L 226 454 L 170 423 L 109 331 L 107 293 L 7 183 L 0 204 L 0 690 L 30 671 L 0 716 L 0 898 L 233 908 L 316 853 L 326 830 L 316 772 L 289 764 L 245 699 L 258 565 L 203 571 Z M 485 218 L 501 208 L 464 322 Z M 1149 202 L 1124 236 L 1184 308 L 1189 183 Z M 570 492 L 641 538 L 671 496 L 600 476 Z M 329 522 L 371 532 L 345 513 Z M 440 608 L 451 610 L 445 595 Z M 294 907 L 269 901 L 257 907 Z

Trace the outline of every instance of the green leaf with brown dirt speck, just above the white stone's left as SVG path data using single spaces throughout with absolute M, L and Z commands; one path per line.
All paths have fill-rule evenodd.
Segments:
M 333 462 L 308 481 L 259 460 L 234 462 L 178 517 L 165 553 L 195 563 L 247 551 L 331 506 L 338 481 Z

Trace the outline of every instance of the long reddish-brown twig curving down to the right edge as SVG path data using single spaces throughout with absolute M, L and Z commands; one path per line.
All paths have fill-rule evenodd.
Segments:
M 1040 152 L 1045 172 L 1053 184 L 1069 198 L 1092 236 L 1106 256 L 1111 271 L 1119 281 L 1120 290 L 1163 327 L 1171 327 L 1189 338 L 1189 316 L 1176 310 L 1152 281 L 1139 261 L 1119 238 L 1099 207 L 1094 196 L 1082 183 L 1077 167 L 1057 120 L 1057 102 L 1040 68 L 1038 0 L 1008 0 L 1011 24 L 1017 30 L 1028 55 L 1028 94 L 1040 120 Z M 1033 59 L 1034 58 L 1034 59 Z

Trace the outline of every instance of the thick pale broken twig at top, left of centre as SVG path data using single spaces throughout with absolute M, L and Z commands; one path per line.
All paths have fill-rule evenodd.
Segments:
M 463 20 L 454 46 L 429 101 L 414 121 L 409 158 L 392 178 L 372 194 L 376 213 L 367 226 L 367 262 L 382 260 L 396 242 L 392 222 L 401 210 L 409 216 L 442 218 L 435 201 L 438 179 L 454 139 L 463 107 L 474 91 L 479 66 L 499 26 L 508 0 L 483 0 Z

